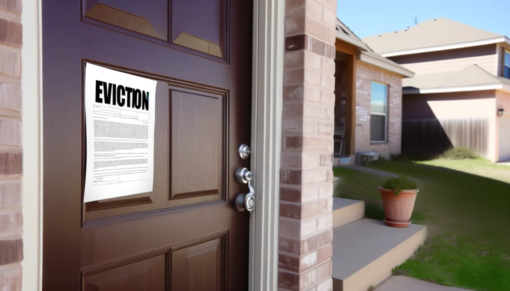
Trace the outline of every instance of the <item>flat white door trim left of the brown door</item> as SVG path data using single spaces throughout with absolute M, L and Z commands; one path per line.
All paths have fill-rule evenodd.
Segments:
M 42 286 L 42 0 L 23 0 L 23 261 L 21 288 Z

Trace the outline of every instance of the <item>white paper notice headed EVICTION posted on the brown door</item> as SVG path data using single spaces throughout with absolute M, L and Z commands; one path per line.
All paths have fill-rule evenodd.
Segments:
M 152 191 L 156 83 L 85 65 L 84 202 Z

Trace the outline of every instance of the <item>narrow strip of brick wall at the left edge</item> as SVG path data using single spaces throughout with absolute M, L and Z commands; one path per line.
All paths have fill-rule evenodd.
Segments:
M 21 290 L 21 1 L 0 0 L 0 290 Z

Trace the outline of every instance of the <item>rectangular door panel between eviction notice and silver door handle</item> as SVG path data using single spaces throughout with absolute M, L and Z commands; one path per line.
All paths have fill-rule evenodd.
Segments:
M 170 199 L 223 194 L 223 96 L 171 92 Z

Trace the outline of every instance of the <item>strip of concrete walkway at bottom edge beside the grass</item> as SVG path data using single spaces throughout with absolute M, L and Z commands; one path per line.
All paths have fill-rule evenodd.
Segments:
M 418 279 L 393 276 L 388 281 L 381 284 L 375 289 L 376 291 L 469 291 L 455 287 L 442 286 Z

